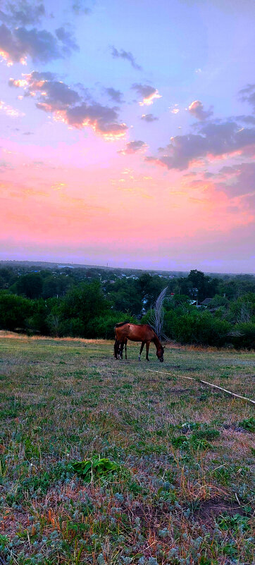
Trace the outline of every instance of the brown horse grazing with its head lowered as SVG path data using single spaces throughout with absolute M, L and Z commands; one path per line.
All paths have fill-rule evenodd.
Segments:
M 123 347 L 125 344 L 125 358 L 127 359 L 127 341 L 130 340 L 132 342 L 142 342 L 141 349 L 139 352 L 139 361 L 141 361 L 141 354 L 142 350 L 144 349 L 144 345 L 146 344 L 146 359 L 149 361 L 149 344 L 154 342 L 156 347 L 156 356 L 158 357 L 161 363 L 163 362 L 163 354 L 164 348 L 161 345 L 161 342 L 158 340 L 158 336 L 151 328 L 151 326 L 147 323 L 142 325 L 137 325 L 135 323 L 129 322 L 121 322 L 116 324 L 115 326 L 115 335 L 116 340 L 114 344 L 114 355 L 115 358 L 118 359 L 118 356 L 123 354 Z

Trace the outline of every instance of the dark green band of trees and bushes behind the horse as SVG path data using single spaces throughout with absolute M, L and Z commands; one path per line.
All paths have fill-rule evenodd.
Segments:
M 24 272 L 1 267 L 0 329 L 113 339 L 114 325 L 123 319 L 149 322 L 156 297 L 167 286 L 164 335 L 182 343 L 251 348 L 254 280 L 252 275 L 210 277 L 197 270 L 163 278 L 97 268 Z M 207 298 L 208 304 L 201 305 Z

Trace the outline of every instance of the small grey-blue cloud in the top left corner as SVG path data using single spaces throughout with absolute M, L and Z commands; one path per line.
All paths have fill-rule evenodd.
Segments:
M 43 2 L 30 4 L 27 0 L 6 2 L 4 11 L 0 10 L 0 20 L 11 25 L 35 25 L 44 15 Z

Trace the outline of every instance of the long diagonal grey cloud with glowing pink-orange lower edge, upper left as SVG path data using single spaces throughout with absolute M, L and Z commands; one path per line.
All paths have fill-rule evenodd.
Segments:
M 9 85 L 23 87 L 25 96 L 35 97 L 37 108 L 53 113 L 55 120 L 73 128 L 90 127 L 105 139 L 125 135 L 128 126 L 119 123 L 117 108 L 109 108 L 92 99 L 85 99 L 65 82 L 56 80 L 56 75 L 52 73 L 33 71 L 23 77 L 18 80 L 11 78 Z

